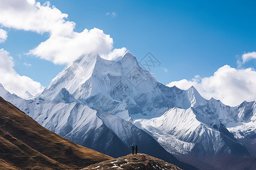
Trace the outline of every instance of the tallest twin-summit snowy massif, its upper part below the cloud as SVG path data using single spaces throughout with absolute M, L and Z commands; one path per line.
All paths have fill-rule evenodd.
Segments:
M 127 108 L 132 118 L 155 117 L 168 108 L 187 109 L 191 105 L 185 91 L 156 81 L 130 52 L 117 62 L 98 54 L 81 56 L 65 67 L 39 97 L 53 100 L 61 88 L 93 109 L 118 114 L 118 108 Z

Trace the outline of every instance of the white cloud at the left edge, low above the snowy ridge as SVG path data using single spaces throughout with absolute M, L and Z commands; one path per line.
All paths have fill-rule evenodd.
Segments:
M 4 49 L 0 49 L 0 61 L 0 83 L 3 84 L 7 91 L 26 98 L 26 91 L 36 95 L 43 90 L 44 87 L 40 83 L 16 73 L 13 69 L 13 57 Z

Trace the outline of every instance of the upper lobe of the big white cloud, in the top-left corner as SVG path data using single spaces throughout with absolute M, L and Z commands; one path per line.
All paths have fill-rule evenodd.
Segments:
M 68 15 L 49 2 L 41 5 L 33 0 L 0 0 L 0 4 L 0 23 L 5 27 L 53 35 L 67 35 L 75 28 L 75 23 L 65 21 Z

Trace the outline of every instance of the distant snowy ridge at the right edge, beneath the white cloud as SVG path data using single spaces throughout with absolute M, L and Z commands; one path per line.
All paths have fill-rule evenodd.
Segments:
M 206 105 L 195 108 L 196 112 L 209 115 L 209 119 L 217 120 L 225 125 L 236 138 L 256 133 L 256 102 L 246 102 L 237 107 L 229 107 L 220 100 L 210 99 Z M 212 124 L 210 124 L 211 126 Z

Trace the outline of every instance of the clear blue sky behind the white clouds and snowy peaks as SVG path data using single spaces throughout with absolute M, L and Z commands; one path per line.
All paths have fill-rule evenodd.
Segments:
M 41 5 L 46 1 L 39 1 Z M 1 1 L 0 1 L 1 3 Z M 60 1 L 50 0 L 75 32 L 99 28 L 113 48 L 129 49 L 138 61 L 151 52 L 161 62 L 151 72 L 163 84 L 196 75 L 212 76 L 220 67 L 255 68 L 256 59 L 239 66 L 242 54 L 255 52 L 255 1 Z M 114 12 L 114 15 L 113 15 Z M 106 15 L 109 13 L 109 15 Z M 7 27 L 0 44 L 14 58 L 14 70 L 48 86 L 65 66 L 27 55 L 50 33 Z

